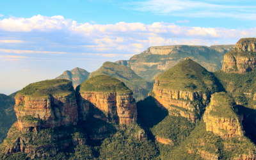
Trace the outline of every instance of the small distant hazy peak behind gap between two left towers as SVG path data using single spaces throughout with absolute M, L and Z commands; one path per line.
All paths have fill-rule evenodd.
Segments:
M 68 79 L 69 81 L 72 81 L 74 89 L 76 90 L 76 87 L 83 83 L 86 79 L 88 79 L 89 72 L 82 68 L 74 68 L 72 70 L 66 70 L 61 74 L 61 76 L 56 77 L 56 79 Z

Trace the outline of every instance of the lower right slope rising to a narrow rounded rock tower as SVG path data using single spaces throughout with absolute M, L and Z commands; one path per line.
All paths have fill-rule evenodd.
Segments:
M 243 135 L 241 118 L 227 93 L 214 93 L 200 121 L 164 159 L 256 159 L 256 146 Z

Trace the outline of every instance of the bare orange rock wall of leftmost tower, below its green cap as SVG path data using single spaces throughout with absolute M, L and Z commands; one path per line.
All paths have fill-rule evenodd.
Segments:
M 61 87 L 72 90 L 72 83 L 67 81 L 66 84 L 61 84 Z M 19 131 L 37 132 L 40 128 L 76 125 L 77 104 L 74 89 L 72 91 L 64 95 L 56 94 L 46 97 L 17 93 L 14 109 L 18 118 Z

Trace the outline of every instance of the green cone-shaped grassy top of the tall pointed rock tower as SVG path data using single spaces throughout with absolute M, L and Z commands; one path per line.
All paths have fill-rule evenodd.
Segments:
M 186 60 L 156 77 L 157 88 L 198 91 L 203 93 L 218 92 L 216 77 L 193 60 Z

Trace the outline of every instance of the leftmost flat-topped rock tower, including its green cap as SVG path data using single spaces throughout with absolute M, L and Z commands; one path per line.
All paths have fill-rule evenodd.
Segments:
M 75 91 L 66 79 L 29 84 L 15 96 L 14 110 L 22 132 L 74 125 L 78 120 Z

